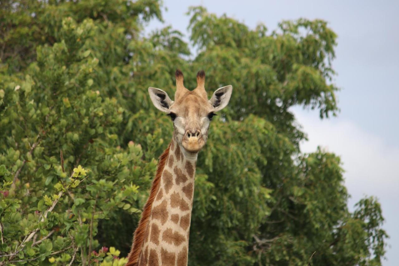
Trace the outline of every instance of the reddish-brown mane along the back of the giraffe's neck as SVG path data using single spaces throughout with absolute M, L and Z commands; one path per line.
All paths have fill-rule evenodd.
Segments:
M 141 253 L 142 244 L 144 241 L 144 234 L 146 232 L 148 225 L 148 220 L 150 220 L 152 202 L 154 202 L 156 193 L 158 192 L 159 184 L 161 181 L 161 175 L 162 172 L 164 171 L 166 160 L 168 159 L 169 149 L 170 149 L 170 144 L 168 148 L 166 148 L 164 153 L 162 153 L 162 155 L 159 157 L 158 168 L 156 169 L 156 175 L 154 181 L 152 181 L 150 196 L 148 197 L 148 200 L 144 206 L 140 222 L 138 222 L 137 229 L 136 231 L 134 231 L 132 250 L 130 250 L 129 261 L 126 264 L 126 266 L 137 265 L 138 258 Z

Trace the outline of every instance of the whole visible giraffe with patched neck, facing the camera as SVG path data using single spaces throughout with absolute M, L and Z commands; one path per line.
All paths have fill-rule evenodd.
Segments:
M 221 87 L 208 100 L 204 71 L 198 72 L 197 87 L 192 91 L 184 87 L 179 69 L 175 77 L 174 101 L 162 89 L 148 88 L 154 106 L 172 119 L 174 132 L 160 156 L 126 265 L 188 264 L 197 155 L 208 139 L 212 117 L 229 103 L 233 88 Z

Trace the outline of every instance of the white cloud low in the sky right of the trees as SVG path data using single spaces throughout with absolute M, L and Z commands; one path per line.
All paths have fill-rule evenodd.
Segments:
M 303 152 L 313 152 L 321 146 L 339 155 L 345 169 L 345 185 L 352 195 L 349 208 L 359 199 L 376 196 L 381 203 L 384 228 L 390 235 L 384 265 L 396 265 L 399 261 L 399 147 L 392 147 L 375 135 L 363 131 L 356 123 L 342 119 L 320 120 L 314 112 L 294 109 L 309 141 L 301 143 Z M 370 122 L 372 123 L 372 122 Z

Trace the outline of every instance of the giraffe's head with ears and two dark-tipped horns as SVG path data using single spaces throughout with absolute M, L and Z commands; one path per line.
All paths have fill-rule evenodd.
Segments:
M 148 88 L 152 103 L 173 121 L 174 136 L 187 153 L 198 153 L 208 139 L 209 124 L 215 112 L 229 103 L 231 85 L 217 89 L 208 100 L 205 91 L 205 72 L 197 74 L 197 87 L 189 91 L 183 85 L 183 73 L 176 70 L 174 101 L 162 89 Z

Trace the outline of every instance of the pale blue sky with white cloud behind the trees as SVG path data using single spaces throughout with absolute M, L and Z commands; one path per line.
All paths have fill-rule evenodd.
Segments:
M 245 4 L 243 4 L 245 3 Z M 375 195 L 386 219 L 387 261 L 399 262 L 399 1 L 236 1 L 164 0 L 165 23 L 150 22 L 146 32 L 172 25 L 186 35 L 189 6 L 244 22 L 250 28 L 263 23 L 269 31 L 281 20 L 320 18 L 338 34 L 333 68 L 341 112 L 320 120 L 317 111 L 294 107 L 298 122 L 308 133 L 302 151 L 318 145 L 340 155 L 345 183 L 352 195 L 350 209 L 364 195 Z

